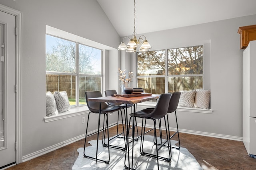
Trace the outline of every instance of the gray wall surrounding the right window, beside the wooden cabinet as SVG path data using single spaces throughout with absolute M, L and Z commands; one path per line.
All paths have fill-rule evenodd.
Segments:
M 212 114 L 178 112 L 179 128 L 242 137 L 242 52 L 238 28 L 256 24 L 256 15 L 147 33 L 154 49 L 187 47 L 210 42 Z M 138 35 L 139 36 L 139 35 Z M 210 58 L 209 58 L 210 57 Z M 205 73 L 205 72 L 204 72 Z M 209 88 L 206 88 L 209 89 Z M 174 127 L 174 126 L 173 126 Z

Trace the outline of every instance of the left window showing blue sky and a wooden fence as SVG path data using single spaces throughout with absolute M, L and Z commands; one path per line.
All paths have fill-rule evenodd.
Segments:
M 101 91 L 102 52 L 46 34 L 46 92 L 66 91 L 70 106 L 84 106 L 86 91 Z

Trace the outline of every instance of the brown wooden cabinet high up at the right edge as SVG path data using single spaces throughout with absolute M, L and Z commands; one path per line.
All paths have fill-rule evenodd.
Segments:
M 240 34 L 240 49 L 245 49 L 250 41 L 256 40 L 256 25 L 239 27 L 238 33 Z

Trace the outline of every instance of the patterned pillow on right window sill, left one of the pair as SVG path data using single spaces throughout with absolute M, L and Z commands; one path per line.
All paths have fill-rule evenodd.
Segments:
M 194 107 L 196 90 L 181 91 L 178 106 Z

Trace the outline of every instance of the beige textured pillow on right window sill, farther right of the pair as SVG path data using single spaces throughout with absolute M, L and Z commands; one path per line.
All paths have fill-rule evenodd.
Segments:
M 210 93 L 210 90 L 196 90 L 195 107 L 209 109 Z

